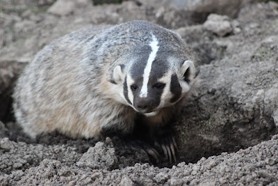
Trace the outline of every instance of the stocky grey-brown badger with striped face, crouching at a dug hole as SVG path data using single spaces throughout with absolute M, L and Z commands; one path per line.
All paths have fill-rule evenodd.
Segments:
M 196 77 L 194 55 L 174 31 L 145 21 L 92 27 L 38 52 L 17 81 L 13 109 L 33 138 L 99 139 L 144 126 L 159 139 Z M 163 150 L 171 154 L 173 143 Z

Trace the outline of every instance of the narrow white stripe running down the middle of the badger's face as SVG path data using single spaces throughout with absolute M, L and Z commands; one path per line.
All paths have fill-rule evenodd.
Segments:
M 152 62 L 154 59 L 156 59 L 156 52 L 158 52 L 158 40 L 156 39 L 156 36 L 152 34 L 152 42 L 149 43 L 149 46 L 152 48 L 151 54 L 149 54 L 149 59 L 147 61 L 147 65 L 144 70 L 144 75 L 143 75 L 143 84 L 142 84 L 142 89 L 140 91 L 140 97 L 141 98 L 146 98 L 147 97 L 147 84 L 149 82 L 149 74 L 151 73 L 152 70 Z

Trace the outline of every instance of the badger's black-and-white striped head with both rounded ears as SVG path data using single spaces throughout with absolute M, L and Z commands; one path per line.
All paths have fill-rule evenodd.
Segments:
M 124 102 L 145 116 L 179 102 L 193 85 L 196 73 L 194 63 L 177 52 L 160 47 L 152 35 L 148 45 L 138 47 L 128 62 L 117 65 L 113 79 L 122 88 Z

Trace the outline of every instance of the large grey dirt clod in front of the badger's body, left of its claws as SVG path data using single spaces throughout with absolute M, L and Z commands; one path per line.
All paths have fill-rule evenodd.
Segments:
M 88 166 L 91 169 L 115 169 L 118 166 L 115 149 L 107 147 L 104 142 L 97 142 L 84 153 L 79 162 L 79 167 Z

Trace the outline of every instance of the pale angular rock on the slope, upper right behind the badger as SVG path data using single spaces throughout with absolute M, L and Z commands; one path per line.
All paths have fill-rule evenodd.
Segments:
M 229 22 L 229 17 L 216 14 L 208 15 L 208 19 L 204 22 L 204 28 L 208 31 L 216 33 L 220 37 L 223 37 L 233 31 Z

